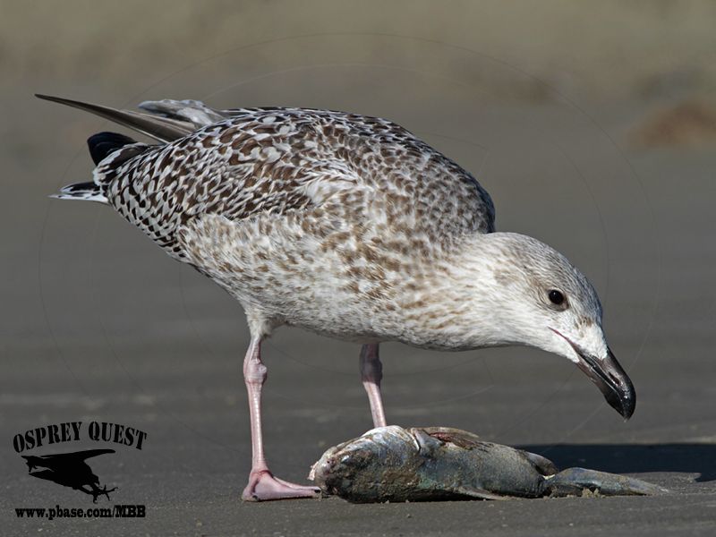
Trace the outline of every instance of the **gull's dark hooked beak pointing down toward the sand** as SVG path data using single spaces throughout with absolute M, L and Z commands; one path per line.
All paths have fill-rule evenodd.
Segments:
M 636 406 L 636 391 L 611 349 L 607 347 L 607 355 L 604 358 L 597 358 L 585 353 L 584 349 L 571 341 L 569 343 L 574 347 L 576 354 L 579 354 L 577 367 L 592 379 L 614 410 L 624 416 L 625 420 L 631 418 Z

